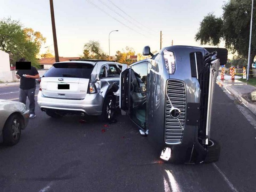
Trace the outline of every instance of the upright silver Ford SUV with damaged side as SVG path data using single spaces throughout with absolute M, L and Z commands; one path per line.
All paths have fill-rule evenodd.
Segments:
M 104 60 L 57 62 L 41 78 L 38 105 L 48 116 L 102 115 L 111 120 L 119 106 L 119 75 L 126 65 Z

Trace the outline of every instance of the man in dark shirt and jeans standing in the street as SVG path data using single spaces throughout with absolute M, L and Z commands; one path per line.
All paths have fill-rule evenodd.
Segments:
M 19 62 L 26 62 L 21 58 Z M 26 98 L 29 98 L 29 118 L 35 117 L 35 79 L 40 78 L 38 70 L 31 66 L 31 69 L 17 70 L 16 78 L 20 79 L 19 101 L 26 105 Z

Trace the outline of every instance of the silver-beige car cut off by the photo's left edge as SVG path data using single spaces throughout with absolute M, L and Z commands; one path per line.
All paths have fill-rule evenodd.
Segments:
M 20 140 L 21 129 L 29 122 L 29 110 L 21 102 L 0 99 L 0 141 L 15 145 Z

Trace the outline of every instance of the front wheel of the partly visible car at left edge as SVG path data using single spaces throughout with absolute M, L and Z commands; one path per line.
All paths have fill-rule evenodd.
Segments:
M 3 127 L 3 143 L 15 145 L 20 140 L 22 119 L 17 114 L 9 116 Z

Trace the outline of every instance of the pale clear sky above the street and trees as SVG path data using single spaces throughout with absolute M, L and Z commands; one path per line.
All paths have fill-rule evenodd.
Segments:
M 108 54 L 108 34 L 116 29 L 119 32 L 110 35 L 111 55 L 126 46 L 133 47 L 136 53 L 142 53 L 145 45 L 158 51 L 160 30 L 163 47 L 170 46 L 172 40 L 174 45 L 200 46 L 194 37 L 201 20 L 210 12 L 221 16 L 224 0 L 53 0 L 53 3 L 59 56 L 76 57 L 82 55 L 84 44 L 90 40 L 99 41 Z M 41 52 L 50 46 L 54 53 L 49 0 L 0 0 L 0 19 L 3 17 L 20 20 L 24 27 L 40 31 L 47 38 Z

